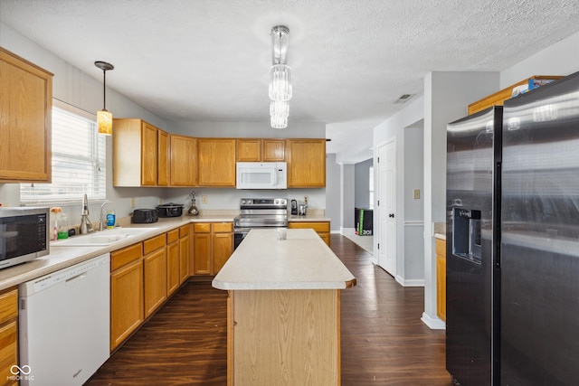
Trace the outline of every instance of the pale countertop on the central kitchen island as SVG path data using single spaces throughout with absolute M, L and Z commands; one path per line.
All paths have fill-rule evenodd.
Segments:
M 219 289 L 343 289 L 356 278 L 311 229 L 252 230 L 215 276 Z

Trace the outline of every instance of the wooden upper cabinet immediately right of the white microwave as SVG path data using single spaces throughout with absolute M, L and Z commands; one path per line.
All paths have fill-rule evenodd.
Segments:
M 287 139 L 289 188 L 326 186 L 326 139 Z

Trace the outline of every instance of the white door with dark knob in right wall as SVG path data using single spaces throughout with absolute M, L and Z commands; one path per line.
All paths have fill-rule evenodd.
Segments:
M 378 147 L 378 265 L 396 276 L 396 140 Z

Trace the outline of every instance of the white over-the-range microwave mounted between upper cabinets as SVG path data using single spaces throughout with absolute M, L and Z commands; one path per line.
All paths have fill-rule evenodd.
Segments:
M 285 162 L 238 162 L 237 189 L 287 189 Z

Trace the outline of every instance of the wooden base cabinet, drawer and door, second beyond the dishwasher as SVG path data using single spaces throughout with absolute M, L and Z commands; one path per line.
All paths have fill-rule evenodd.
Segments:
M 166 301 L 166 235 L 143 241 L 145 318 Z

